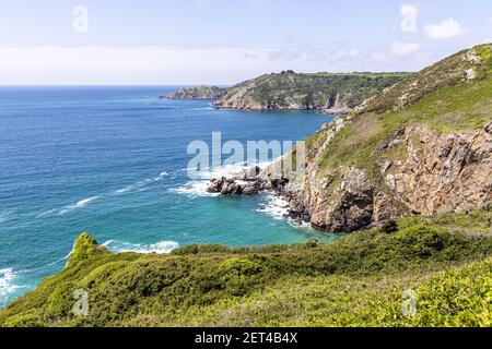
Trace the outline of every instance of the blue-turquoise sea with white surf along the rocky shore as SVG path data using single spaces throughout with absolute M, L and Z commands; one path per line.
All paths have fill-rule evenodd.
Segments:
M 291 226 L 268 194 L 206 195 L 185 170 L 212 132 L 296 141 L 331 117 L 156 99 L 171 89 L 0 87 L 0 308 L 60 270 L 81 231 L 140 252 L 337 238 Z

